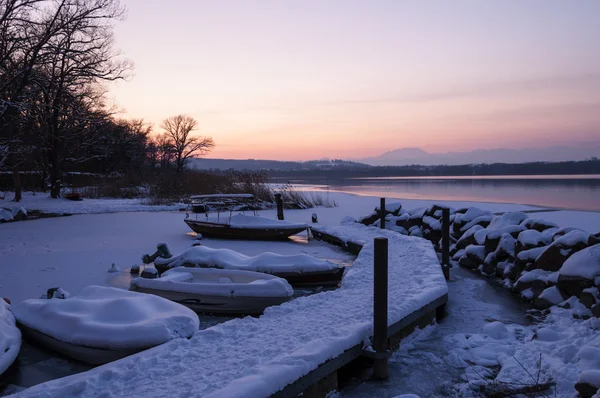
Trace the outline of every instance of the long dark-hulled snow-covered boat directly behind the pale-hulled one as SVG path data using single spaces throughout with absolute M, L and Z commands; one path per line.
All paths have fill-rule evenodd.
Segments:
M 262 253 L 249 257 L 230 249 L 194 246 L 178 256 L 156 258 L 159 272 L 173 267 L 221 268 L 263 272 L 284 278 L 293 287 L 338 286 L 345 267 L 306 254 Z

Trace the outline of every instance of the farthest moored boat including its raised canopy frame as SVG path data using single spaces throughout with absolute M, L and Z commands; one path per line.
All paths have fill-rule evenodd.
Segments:
M 190 218 L 185 223 L 203 237 L 218 239 L 282 240 L 308 229 L 308 224 L 261 217 L 252 194 L 211 194 L 190 197 L 192 213 L 205 213 L 204 219 Z M 234 211 L 254 212 L 253 215 Z M 216 214 L 209 217 L 209 212 Z M 221 214 L 224 212 L 225 214 Z M 227 215 L 227 213 L 229 213 Z

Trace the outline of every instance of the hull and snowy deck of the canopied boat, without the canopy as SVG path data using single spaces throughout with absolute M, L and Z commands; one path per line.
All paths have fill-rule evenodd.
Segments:
M 279 240 L 308 229 L 308 224 L 304 223 L 245 214 L 236 214 L 223 221 L 186 218 L 185 223 L 202 236 L 220 239 Z

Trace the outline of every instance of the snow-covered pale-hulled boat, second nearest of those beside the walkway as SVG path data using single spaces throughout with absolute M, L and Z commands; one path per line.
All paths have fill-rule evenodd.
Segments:
M 157 279 L 135 278 L 130 289 L 214 314 L 261 314 L 294 295 L 284 279 L 272 275 L 186 267 L 170 269 Z

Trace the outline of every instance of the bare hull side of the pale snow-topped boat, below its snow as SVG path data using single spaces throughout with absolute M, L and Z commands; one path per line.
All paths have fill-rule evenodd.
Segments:
M 139 286 L 132 287 L 131 290 L 154 294 L 185 305 L 192 311 L 205 314 L 258 315 L 262 314 L 265 308 L 282 304 L 290 299 L 289 297 L 223 297 L 150 289 Z

